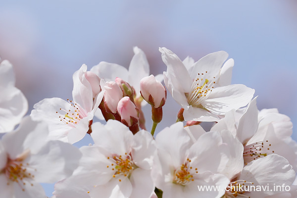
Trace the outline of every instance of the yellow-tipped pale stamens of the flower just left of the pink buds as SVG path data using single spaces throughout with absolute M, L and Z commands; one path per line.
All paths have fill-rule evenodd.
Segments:
M 68 110 L 60 108 L 60 112 L 56 111 L 56 113 L 59 115 L 61 122 L 71 126 L 72 128 L 75 128 L 75 125 L 77 125 L 81 119 L 87 117 L 88 115 L 79 104 L 69 99 L 67 99 L 67 101 L 71 104 L 71 107 Z

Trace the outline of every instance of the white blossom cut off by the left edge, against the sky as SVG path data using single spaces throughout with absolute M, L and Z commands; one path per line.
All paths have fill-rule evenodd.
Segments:
M 12 65 L 8 60 L 0 63 L 0 133 L 10 132 L 28 111 L 28 102 L 15 87 Z

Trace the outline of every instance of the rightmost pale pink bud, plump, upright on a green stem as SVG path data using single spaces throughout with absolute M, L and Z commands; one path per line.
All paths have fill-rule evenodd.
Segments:
M 140 93 L 154 108 L 159 108 L 165 104 L 166 89 L 153 75 L 141 79 Z

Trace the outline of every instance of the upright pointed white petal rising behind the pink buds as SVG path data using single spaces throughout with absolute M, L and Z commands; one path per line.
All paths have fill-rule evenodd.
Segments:
M 128 82 L 135 89 L 136 97 L 140 96 L 140 80 L 149 75 L 149 65 L 146 54 L 138 47 L 134 47 L 133 56 L 129 66 Z

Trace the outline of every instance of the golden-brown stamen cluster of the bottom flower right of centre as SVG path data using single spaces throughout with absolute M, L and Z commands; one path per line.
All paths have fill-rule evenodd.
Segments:
M 193 167 L 188 166 L 190 162 L 191 159 L 188 158 L 186 163 L 182 164 L 178 169 L 174 171 L 173 183 L 185 186 L 194 181 L 193 175 L 198 173 L 198 171 L 196 168 L 196 172 L 193 172 Z

